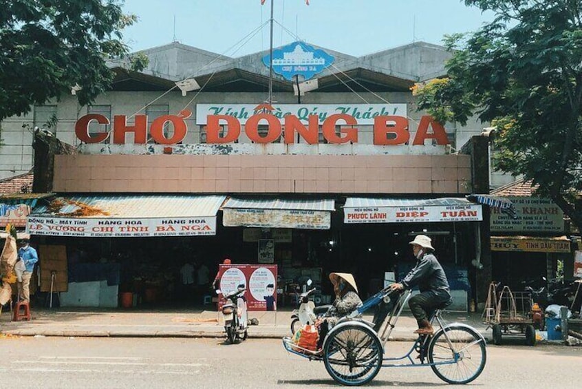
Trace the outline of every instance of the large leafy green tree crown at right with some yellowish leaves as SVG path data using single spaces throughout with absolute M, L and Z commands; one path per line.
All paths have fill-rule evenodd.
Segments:
M 465 0 L 493 11 L 477 32 L 445 37 L 448 77 L 418 85 L 441 123 L 476 114 L 497 127 L 495 167 L 539 184 L 582 227 L 582 0 Z

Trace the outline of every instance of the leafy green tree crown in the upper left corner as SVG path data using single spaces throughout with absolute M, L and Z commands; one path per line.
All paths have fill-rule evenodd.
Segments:
M 136 21 L 118 0 L 0 0 L 0 120 L 70 94 L 91 103 L 126 59 L 121 31 Z M 131 59 L 130 59 L 131 60 Z M 142 56 L 135 63 L 144 67 Z M 80 87 L 80 90 L 78 89 Z

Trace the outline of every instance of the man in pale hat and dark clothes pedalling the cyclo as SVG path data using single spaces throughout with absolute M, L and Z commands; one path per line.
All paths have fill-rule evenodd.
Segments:
M 392 291 L 404 291 L 418 286 L 420 293 L 409 299 L 408 305 L 412 315 L 418 322 L 419 335 L 432 335 L 433 327 L 429 322 L 429 315 L 438 306 L 450 304 L 451 293 L 449 282 L 442 270 L 442 266 L 434 255 L 435 249 L 431 245 L 431 238 L 427 235 L 416 235 L 412 242 L 412 252 L 416 257 L 416 266 L 398 284 L 390 286 Z

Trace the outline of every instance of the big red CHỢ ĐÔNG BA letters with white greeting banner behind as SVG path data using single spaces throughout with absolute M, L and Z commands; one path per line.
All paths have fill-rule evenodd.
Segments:
M 411 138 L 409 120 L 406 117 L 406 106 L 404 104 L 402 104 L 404 108 L 399 106 L 363 105 L 358 110 L 358 107 L 353 105 L 333 105 L 332 107 L 327 105 L 306 107 L 292 105 L 293 108 L 281 106 L 283 107 L 281 112 L 267 104 L 256 107 L 249 105 L 248 107 L 251 107 L 252 110 L 248 112 L 243 112 L 244 106 L 240 108 L 233 106 L 227 108 L 226 111 L 220 106 L 202 106 L 197 108 L 199 110 L 197 124 L 206 125 L 204 128 L 206 143 L 209 144 L 237 141 L 243 125 L 246 136 L 255 143 L 273 143 L 282 137 L 283 143 L 294 144 L 298 141 L 296 136 L 298 134 L 306 143 L 315 145 L 319 143 L 320 125 L 323 137 L 328 143 L 358 143 L 358 128 L 356 126 L 371 124 L 374 126 L 374 145 L 405 145 L 409 143 Z M 404 111 L 403 114 L 402 111 Z M 215 114 L 208 114 L 211 112 L 215 112 Z M 127 124 L 127 116 L 116 115 L 114 116 L 112 143 L 125 145 L 127 134 L 133 134 L 133 143 L 140 145 L 146 144 L 149 138 L 160 145 L 180 143 L 188 133 L 188 125 L 186 125 L 185 120 L 191 114 L 190 111 L 184 110 L 177 115 L 164 115 L 155 118 L 149 131 L 147 115 L 134 116 L 135 123 L 133 125 Z M 77 138 L 84 143 L 101 143 L 107 140 L 110 136 L 109 132 L 89 133 L 89 125 L 92 122 L 103 126 L 110 124 L 109 119 L 103 115 L 85 115 L 75 125 Z M 173 127 L 173 132 L 167 131 L 168 124 Z M 268 126 L 266 134 L 259 134 L 259 125 Z M 340 134 L 337 134 L 336 126 L 341 127 Z M 422 116 L 412 145 L 424 145 L 424 141 L 427 139 L 434 139 L 438 145 L 449 144 L 444 127 L 431 116 Z

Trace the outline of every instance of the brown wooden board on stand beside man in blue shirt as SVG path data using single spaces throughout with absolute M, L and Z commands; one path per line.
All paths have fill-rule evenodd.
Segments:
M 41 244 L 39 246 L 41 292 L 50 292 L 50 277 L 54 272 L 53 292 L 66 292 L 69 288 L 67 247 Z

